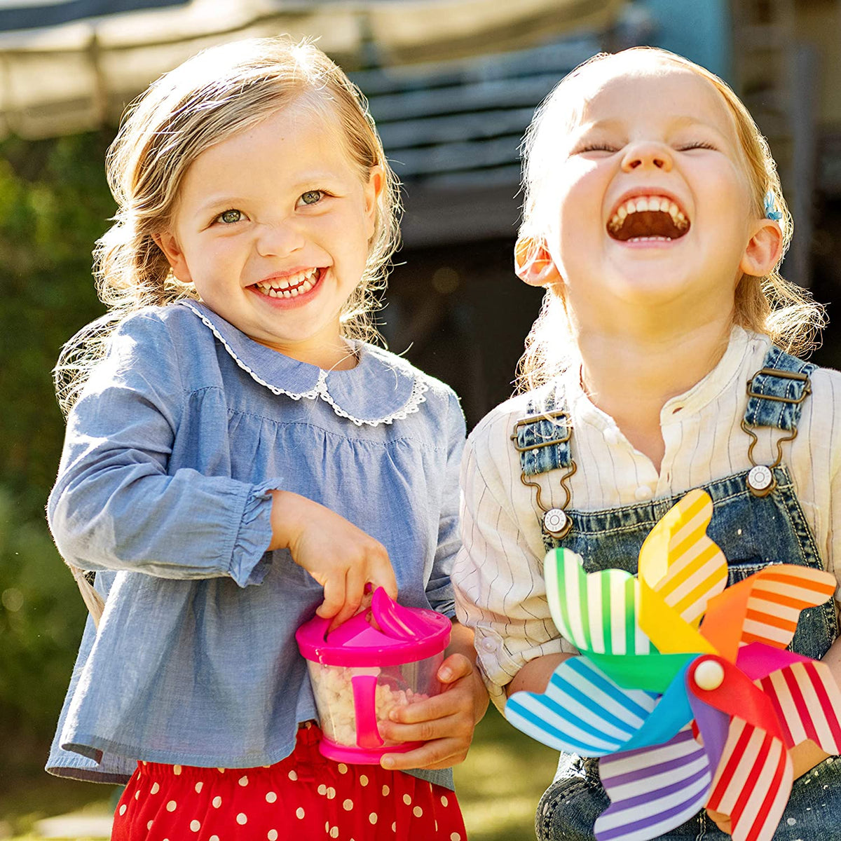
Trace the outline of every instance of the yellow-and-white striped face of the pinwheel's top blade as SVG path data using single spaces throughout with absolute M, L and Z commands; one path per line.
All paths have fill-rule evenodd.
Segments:
M 710 496 L 690 491 L 653 527 L 639 553 L 640 575 L 687 622 L 700 620 L 727 584 L 727 558 L 706 536 L 711 519 Z

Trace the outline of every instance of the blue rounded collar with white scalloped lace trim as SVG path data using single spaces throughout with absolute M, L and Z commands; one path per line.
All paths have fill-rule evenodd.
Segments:
M 357 426 L 379 426 L 403 420 L 426 401 L 429 386 L 415 368 L 394 354 L 358 341 L 359 362 L 346 371 L 325 371 L 299 362 L 253 341 L 198 301 L 181 301 L 202 320 L 221 345 L 253 380 L 273 394 L 321 399 L 339 417 Z

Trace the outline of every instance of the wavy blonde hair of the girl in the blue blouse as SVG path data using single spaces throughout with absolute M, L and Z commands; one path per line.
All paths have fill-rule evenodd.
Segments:
M 97 242 L 93 274 L 108 313 L 61 350 L 54 378 L 61 410 L 76 402 L 114 326 L 136 309 L 197 298 L 180 283 L 154 235 L 167 229 L 178 189 L 210 146 L 262 122 L 294 101 L 336 122 L 346 150 L 368 181 L 382 167 L 375 230 L 362 278 L 341 312 L 347 338 L 378 341 L 372 313 L 399 243 L 399 182 L 386 161 L 362 92 L 315 45 L 285 37 L 212 47 L 161 76 L 124 114 L 108 149 L 108 186 L 117 203 L 114 225 Z

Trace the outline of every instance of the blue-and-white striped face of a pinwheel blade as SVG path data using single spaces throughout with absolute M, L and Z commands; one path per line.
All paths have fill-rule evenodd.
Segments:
M 555 750 L 604 756 L 632 738 L 656 705 L 652 692 L 625 690 L 584 657 L 565 660 L 543 693 L 515 692 L 505 718 Z

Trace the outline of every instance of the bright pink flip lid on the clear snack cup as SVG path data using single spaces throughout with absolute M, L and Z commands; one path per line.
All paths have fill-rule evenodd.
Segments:
M 380 630 L 368 621 L 373 617 Z M 447 616 L 422 607 L 404 607 L 378 587 L 371 610 L 357 613 L 330 633 L 331 619 L 315 616 L 295 632 L 300 653 L 329 666 L 391 666 L 441 653 L 450 643 Z

